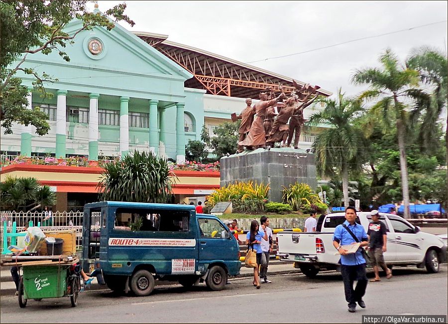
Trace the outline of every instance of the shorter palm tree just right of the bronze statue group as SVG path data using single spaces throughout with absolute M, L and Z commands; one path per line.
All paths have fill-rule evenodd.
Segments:
M 318 102 L 323 102 L 326 107 L 311 116 L 308 125 L 325 123 L 331 128 L 320 133 L 313 143 L 316 170 L 321 176 L 340 174 L 344 206 L 348 207 L 348 171 L 357 167 L 350 163 L 357 154 L 360 136 L 351 123 L 359 115 L 361 105 L 358 100 L 344 98 L 341 89 L 338 90 L 336 100 L 320 98 Z

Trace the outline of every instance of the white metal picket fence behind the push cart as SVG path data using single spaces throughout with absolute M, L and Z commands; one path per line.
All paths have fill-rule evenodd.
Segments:
M 92 212 L 91 216 L 91 231 L 98 231 L 100 229 L 101 212 Z M 51 219 L 46 218 L 44 212 L 23 212 L 23 211 L 0 211 L 0 242 L 3 242 L 4 223 L 6 222 L 6 230 L 8 233 L 12 230 L 13 222 L 16 223 L 16 232 L 24 230 L 24 225 L 32 221 L 33 226 L 40 223 L 41 229 L 45 231 L 57 230 L 76 230 L 76 247 L 82 246 L 83 237 L 83 212 L 82 211 L 55 211 L 51 215 Z M 10 239 L 8 239 L 8 245 Z M 3 252 L 3 244 L 1 244 L 1 252 Z

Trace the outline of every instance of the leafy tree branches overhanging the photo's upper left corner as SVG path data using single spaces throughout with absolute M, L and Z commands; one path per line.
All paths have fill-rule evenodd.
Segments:
M 28 55 L 42 53 L 48 55 L 57 51 L 63 60 L 70 57 L 64 51 L 72 44 L 82 30 L 103 26 L 108 30 L 114 22 L 124 20 L 131 26 L 134 22 L 124 14 L 126 4 L 117 4 L 100 13 L 89 12 L 88 0 L 1 0 L 0 1 L 0 123 L 5 134 L 11 134 L 12 123 L 36 127 L 38 135 L 48 133 L 50 126 L 47 116 L 38 109 L 26 109 L 27 87 L 21 85 L 17 72 L 34 77 L 33 86 L 46 96 L 44 83 L 54 82 L 55 78 L 32 68 L 22 67 Z M 109 17 L 114 18 L 112 21 Z M 73 19 L 80 19 L 83 25 L 70 34 L 64 27 Z

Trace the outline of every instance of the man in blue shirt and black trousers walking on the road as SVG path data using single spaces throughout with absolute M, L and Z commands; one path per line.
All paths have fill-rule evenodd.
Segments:
M 365 308 L 362 297 L 367 288 L 367 276 L 365 273 L 365 259 L 361 248 L 367 246 L 368 237 L 362 225 L 357 224 L 356 209 L 352 206 L 345 208 L 345 221 L 337 225 L 333 235 L 333 246 L 340 254 L 340 271 L 344 281 L 345 300 L 348 303 L 348 312 L 356 311 L 356 303 L 360 308 Z M 347 250 L 341 248 L 342 245 L 355 244 L 360 242 L 360 248 L 355 253 L 347 254 Z M 353 290 L 353 282 L 357 281 Z

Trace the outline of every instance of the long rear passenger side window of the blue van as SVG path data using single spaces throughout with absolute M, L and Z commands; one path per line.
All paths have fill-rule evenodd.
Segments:
M 114 229 L 119 231 L 190 231 L 188 210 L 118 208 Z

